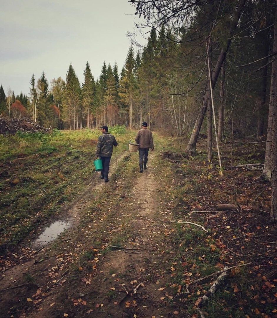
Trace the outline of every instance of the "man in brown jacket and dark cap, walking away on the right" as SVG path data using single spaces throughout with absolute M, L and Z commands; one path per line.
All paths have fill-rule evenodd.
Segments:
M 135 142 L 139 144 L 139 166 L 140 172 L 143 172 L 143 168 L 146 168 L 146 163 L 148 161 L 149 148 L 151 151 L 154 150 L 153 136 L 151 130 L 147 129 L 147 122 L 143 121 L 142 129 L 140 129 L 135 136 Z

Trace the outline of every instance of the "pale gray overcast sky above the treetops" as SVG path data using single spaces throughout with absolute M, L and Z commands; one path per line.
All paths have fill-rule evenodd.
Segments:
M 0 85 L 5 94 L 10 88 L 29 96 L 33 73 L 37 81 L 44 71 L 49 86 L 53 78 L 66 80 L 70 63 L 80 84 L 87 61 L 95 80 L 104 61 L 112 67 L 116 62 L 120 73 L 130 47 L 127 32 L 146 43 L 134 13 L 128 0 L 2 1 Z

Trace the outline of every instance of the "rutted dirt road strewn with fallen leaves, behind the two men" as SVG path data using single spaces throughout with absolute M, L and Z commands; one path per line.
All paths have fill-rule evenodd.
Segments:
M 116 164 L 128 164 L 128 156 Z M 179 316 L 167 293 L 173 261 L 161 218 L 170 209 L 154 156 L 143 173 L 118 179 L 114 164 L 109 183 L 94 173 L 65 209 L 72 227 L 39 251 L 22 246 L 22 264 L 3 273 L 1 317 Z

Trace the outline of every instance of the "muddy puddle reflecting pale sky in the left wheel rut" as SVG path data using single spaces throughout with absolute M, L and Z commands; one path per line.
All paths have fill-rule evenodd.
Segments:
M 54 239 L 68 229 L 72 224 L 69 221 L 56 221 L 48 226 L 43 233 L 33 242 L 33 245 L 42 247 L 52 242 Z

